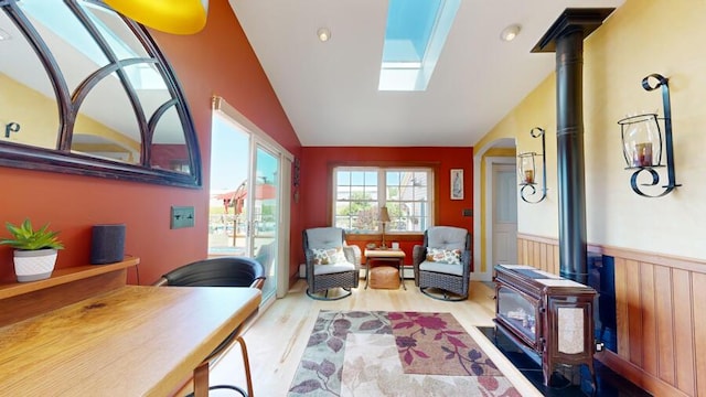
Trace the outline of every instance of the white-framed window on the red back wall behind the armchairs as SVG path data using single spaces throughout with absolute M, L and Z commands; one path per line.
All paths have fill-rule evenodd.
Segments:
M 434 224 L 431 169 L 338 167 L 333 181 L 333 224 L 346 233 L 381 233 L 382 206 L 389 233 L 420 233 Z

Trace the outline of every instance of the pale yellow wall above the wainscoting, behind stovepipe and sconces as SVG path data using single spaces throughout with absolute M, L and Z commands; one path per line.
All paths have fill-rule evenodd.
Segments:
M 691 258 L 706 258 L 699 242 L 706 224 L 706 1 L 628 0 L 585 41 L 584 126 L 587 236 L 600 244 Z M 676 180 L 683 186 L 661 198 L 641 197 L 624 170 L 620 127 L 628 114 L 657 109 L 659 90 L 643 77 L 670 78 Z M 477 152 L 500 138 L 515 138 L 517 152 L 536 151 L 533 127 L 546 128 L 547 198 L 518 201 L 518 232 L 558 237 L 556 92 L 554 73 L 475 143 Z M 663 176 L 665 179 L 665 176 Z M 482 196 L 482 195 L 481 195 Z

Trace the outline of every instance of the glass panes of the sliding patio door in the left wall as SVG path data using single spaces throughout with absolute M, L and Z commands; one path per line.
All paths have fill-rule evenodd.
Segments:
M 208 256 L 245 256 L 263 264 L 263 302 L 277 291 L 280 159 L 255 135 L 214 114 Z

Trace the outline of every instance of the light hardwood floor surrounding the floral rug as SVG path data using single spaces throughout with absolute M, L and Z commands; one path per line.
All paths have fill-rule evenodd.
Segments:
M 307 283 L 298 280 L 284 299 L 260 310 L 259 318 L 245 333 L 254 394 L 257 397 L 286 396 L 297 371 L 319 310 L 382 310 L 450 312 L 475 339 L 483 351 L 507 376 L 523 396 L 542 396 L 532 384 L 483 336 L 475 326 L 493 325 L 495 313 L 493 290 L 481 282 L 471 282 L 470 298 L 463 302 L 443 302 L 424 296 L 414 280 L 406 280 L 407 290 L 354 289 L 353 296 L 339 301 L 318 301 L 304 293 Z M 236 384 L 245 387 L 240 348 L 234 346 L 212 368 L 211 385 Z M 228 394 L 214 394 L 212 396 Z M 233 394 L 229 394 L 233 395 Z M 460 390 L 459 396 L 466 396 Z

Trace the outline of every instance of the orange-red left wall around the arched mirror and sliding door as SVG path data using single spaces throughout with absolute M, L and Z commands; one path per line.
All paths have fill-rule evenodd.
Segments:
M 57 268 L 86 265 L 90 227 L 125 223 L 126 254 L 141 258 L 139 282 L 151 283 L 163 272 L 206 257 L 211 97 L 220 95 L 281 146 L 300 155 L 300 142 L 227 0 L 212 0 L 206 28 L 194 35 L 152 32 L 174 68 L 194 119 L 203 162 L 203 189 L 179 189 L 0 168 L 0 223 L 51 223 L 66 249 Z M 300 201 L 301 203 L 301 201 Z M 195 227 L 170 229 L 171 205 L 193 205 Z M 298 204 L 292 203 L 292 230 L 300 232 Z M 6 236 L 0 228 L 0 236 Z M 299 238 L 299 237 L 297 237 Z M 292 253 L 301 247 L 292 246 Z M 296 254 L 292 254 L 296 258 Z M 291 265 L 296 271 L 296 264 Z M 0 282 L 14 281 L 12 250 L 0 246 Z M 137 272 L 129 282 L 137 281 Z

